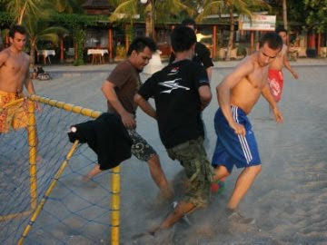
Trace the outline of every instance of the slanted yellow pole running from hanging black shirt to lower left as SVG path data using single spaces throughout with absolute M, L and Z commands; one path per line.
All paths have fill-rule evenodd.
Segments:
M 75 141 L 72 148 L 69 150 L 69 152 L 67 153 L 66 159 L 64 160 L 64 162 L 62 163 L 62 165 L 60 166 L 59 170 L 55 173 L 54 175 L 54 180 L 51 181 L 50 186 L 48 187 L 48 189 L 45 191 L 45 196 L 44 198 L 40 201 L 40 203 L 38 204 L 35 212 L 32 215 L 31 220 L 28 222 L 28 225 L 25 227 L 25 230 L 21 236 L 21 238 L 18 240 L 17 244 L 21 245 L 23 244 L 25 237 L 27 236 L 28 232 L 31 230 L 32 225 L 34 224 L 37 216 L 39 215 L 40 211 L 42 211 L 42 208 L 45 206 L 45 201 L 47 201 L 49 195 L 51 194 L 51 192 L 54 189 L 54 186 L 56 184 L 56 182 L 59 180 L 60 176 L 62 175 L 65 167 L 67 166 L 67 163 L 69 162 L 69 160 L 71 159 L 74 151 L 77 148 L 78 145 L 78 141 Z

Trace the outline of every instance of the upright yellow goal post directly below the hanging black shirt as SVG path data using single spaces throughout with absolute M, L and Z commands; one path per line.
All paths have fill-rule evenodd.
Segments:
M 111 199 L 111 244 L 119 245 L 119 221 L 120 221 L 120 166 L 112 171 L 112 199 Z

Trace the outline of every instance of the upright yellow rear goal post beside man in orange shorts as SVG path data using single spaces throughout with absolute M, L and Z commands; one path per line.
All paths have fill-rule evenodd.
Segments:
M 36 176 L 36 155 L 37 155 L 37 136 L 36 136 L 36 119 L 35 119 L 35 103 L 27 100 L 27 138 L 29 146 L 29 166 L 30 166 L 30 195 L 31 208 L 35 210 L 37 206 L 37 176 Z

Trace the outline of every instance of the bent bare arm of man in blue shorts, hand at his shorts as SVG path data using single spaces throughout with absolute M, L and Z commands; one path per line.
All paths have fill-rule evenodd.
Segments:
M 216 87 L 217 99 L 220 105 L 220 108 L 223 112 L 223 115 L 230 125 L 233 128 L 236 134 L 245 135 L 245 128 L 242 124 L 237 123 L 233 119 L 233 113 L 231 109 L 231 93 L 233 87 L 235 87 L 240 81 L 250 73 L 253 73 L 254 64 L 251 60 L 251 57 L 247 58 L 244 62 L 239 64 L 232 73 L 227 75 L 223 82 Z

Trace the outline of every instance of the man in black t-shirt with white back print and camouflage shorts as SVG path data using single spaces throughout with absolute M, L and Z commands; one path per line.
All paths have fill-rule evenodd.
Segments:
M 209 79 L 203 66 L 191 61 L 196 42 L 193 30 L 178 26 L 171 38 L 176 54 L 173 64 L 154 73 L 134 96 L 144 113 L 157 120 L 163 145 L 173 160 L 181 162 L 191 183 L 159 230 L 171 227 L 186 213 L 205 207 L 213 180 L 213 169 L 203 148 L 201 120 L 201 112 L 212 99 Z M 154 97 L 155 110 L 147 102 L 150 97 Z

